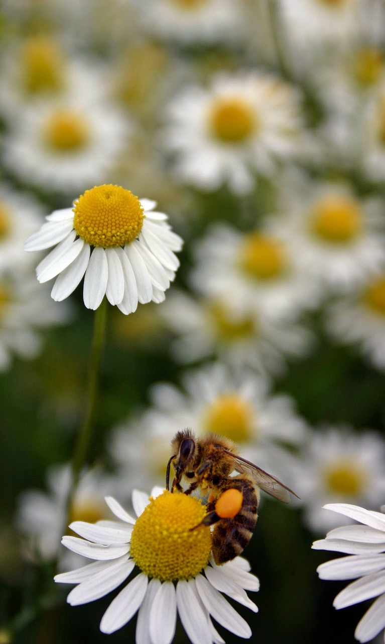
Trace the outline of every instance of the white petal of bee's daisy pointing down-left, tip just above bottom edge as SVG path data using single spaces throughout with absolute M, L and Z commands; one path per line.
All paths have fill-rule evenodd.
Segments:
M 139 573 L 132 582 L 116 595 L 100 622 L 102 633 L 113 633 L 127 624 L 127 621 L 130 621 L 143 601 L 147 584 L 147 575 Z

